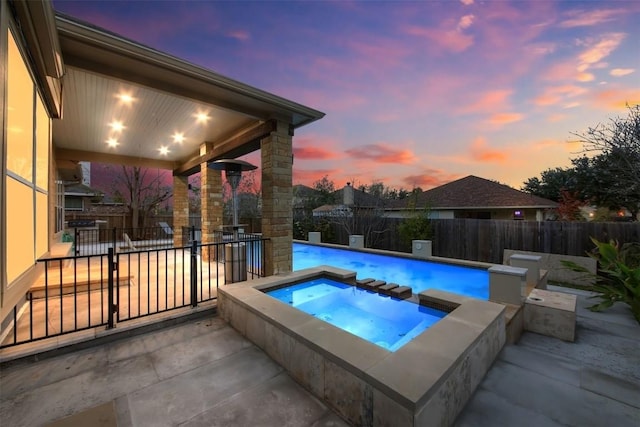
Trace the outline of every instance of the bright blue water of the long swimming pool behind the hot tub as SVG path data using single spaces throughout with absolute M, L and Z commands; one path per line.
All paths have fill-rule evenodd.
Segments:
M 358 279 L 371 277 L 410 286 L 414 294 L 426 289 L 440 289 L 489 299 L 489 273 L 483 269 L 303 243 L 293 244 L 294 271 L 319 265 L 356 271 Z

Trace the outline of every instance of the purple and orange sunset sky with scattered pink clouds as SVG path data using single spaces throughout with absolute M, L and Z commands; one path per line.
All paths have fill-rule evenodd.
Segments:
M 520 188 L 572 132 L 640 103 L 640 1 L 54 1 L 54 8 L 326 113 L 294 184 Z M 259 164 L 253 155 L 250 161 Z

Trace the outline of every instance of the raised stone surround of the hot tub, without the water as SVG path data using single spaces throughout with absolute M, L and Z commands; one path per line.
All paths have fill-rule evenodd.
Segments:
M 355 272 L 321 266 L 221 287 L 218 309 L 353 424 L 452 424 L 504 345 L 504 306 L 421 292 L 414 299 L 448 314 L 391 352 L 263 292 L 320 277 L 355 283 Z

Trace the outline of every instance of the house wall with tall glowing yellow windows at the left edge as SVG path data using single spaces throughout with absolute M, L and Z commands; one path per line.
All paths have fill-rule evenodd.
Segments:
M 23 18 L 24 19 L 24 18 Z M 48 89 L 20 32 L 25 28 L 0 0 L 0 99 L 2 99 L 2 183 L 0 194 L 0 321 L 24 298 L 37 273 L 37 259 L 49 251 L 55 229 L 50 218 L 51 114 Z M 55 194 L 55 193 L 54 193 Z M 10 248 L 10 250 L 8 250 Z

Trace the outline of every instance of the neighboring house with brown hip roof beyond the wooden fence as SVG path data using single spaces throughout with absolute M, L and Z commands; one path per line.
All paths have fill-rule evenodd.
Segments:
M 413 206 L 409 206 L 413 204 Z M 558 203 L 507 185 L 469 175 L 418 194 L 394 200 L 387 217 L 405 218 L 414 209 L 429 209 L 433 219 L 475 218 L 543 221 L 554 217 Z

